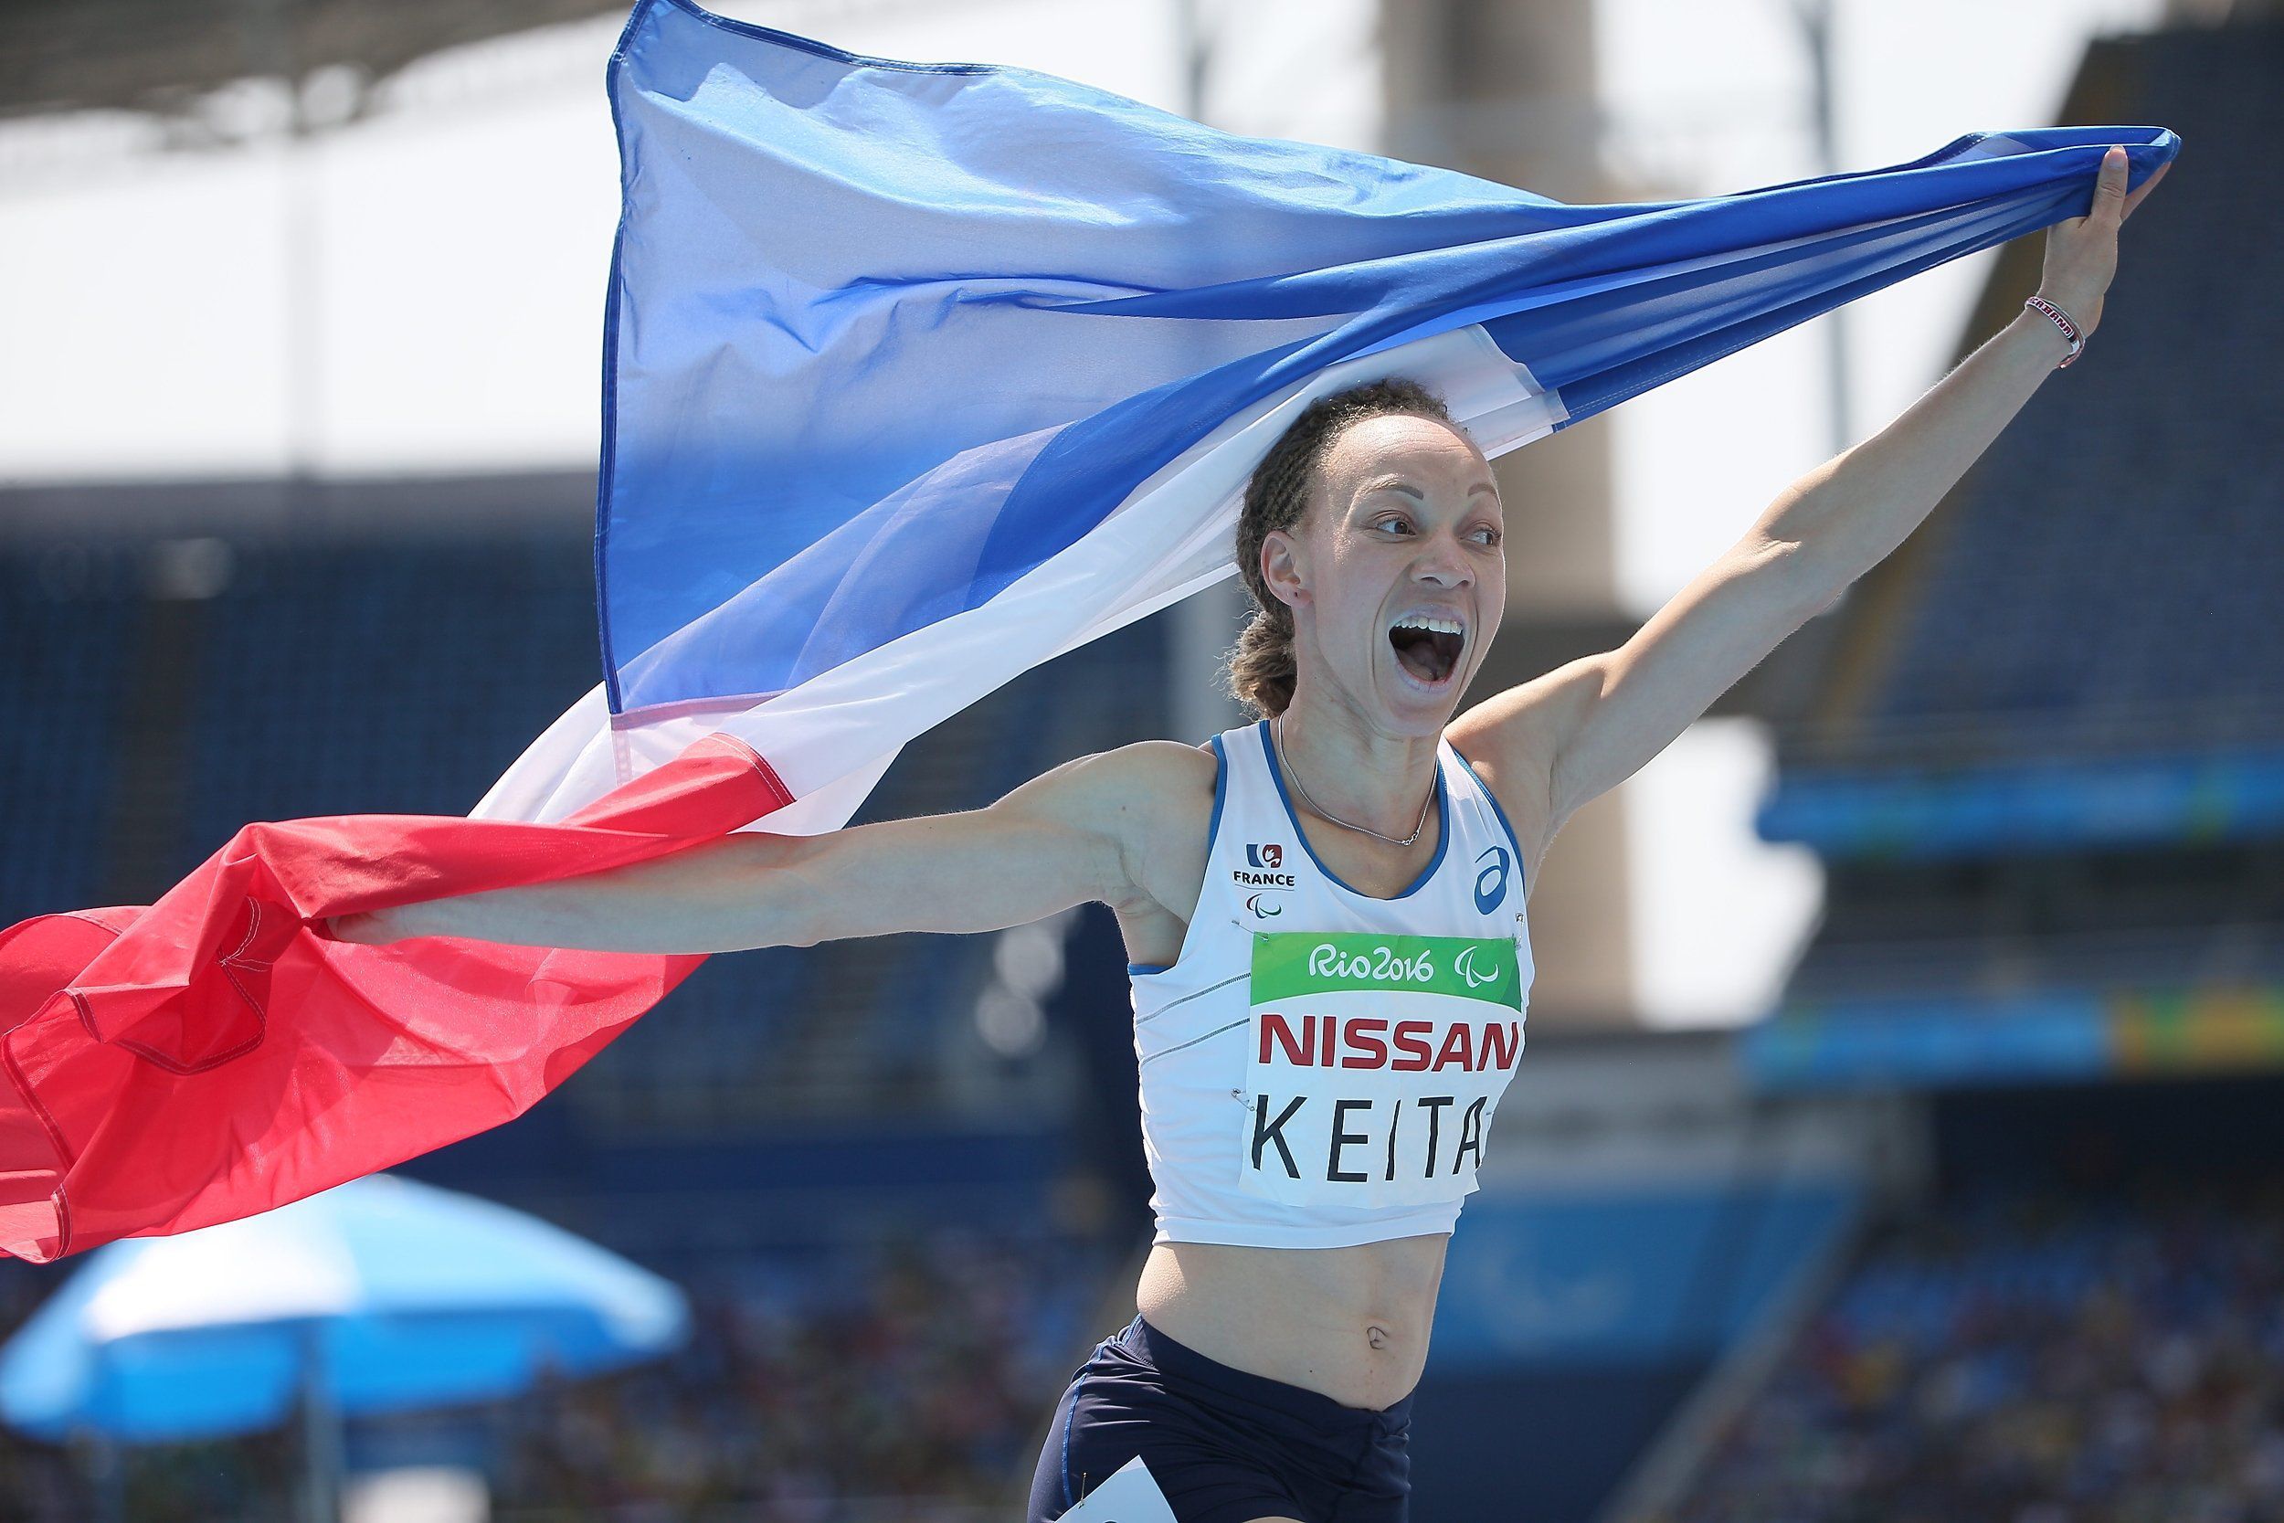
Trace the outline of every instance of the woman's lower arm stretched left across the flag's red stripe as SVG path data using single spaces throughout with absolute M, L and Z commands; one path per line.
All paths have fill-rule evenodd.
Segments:
M 989 808 L 822 836 L 733 833 L 587 877 L 336 916 L 343 941 L 468 936 L 596 952 L 735 952 L 891 932 L 996 932 L 1135 897 L 1163 760 L 1064 763 Z

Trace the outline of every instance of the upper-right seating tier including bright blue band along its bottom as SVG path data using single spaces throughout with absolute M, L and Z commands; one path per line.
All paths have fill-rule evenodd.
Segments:
M 1761 833 L 1839 859 L 2284 838 L 2284 23 L 2097 41 L 2060 112 L 2184 164 L 2049 377 L 1832 614 Z M 1962 356 L 2037 288 L 2005 244 Z

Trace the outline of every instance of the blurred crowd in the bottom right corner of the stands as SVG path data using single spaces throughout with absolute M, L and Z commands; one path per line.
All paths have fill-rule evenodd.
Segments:
M 1884 1238 L 1672 1523 L 2284 1523 L 2284 1180 Z

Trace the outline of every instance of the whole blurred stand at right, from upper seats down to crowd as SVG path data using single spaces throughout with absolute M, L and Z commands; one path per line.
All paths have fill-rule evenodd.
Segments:
M 2273 18 L 2090 53 L 2060 119 L 2184 155 L 2088 358 L 1834 614 L 1779 733 L 1763 831 L 1827 900 L 1740 1050 L 1912 1091 L 1932 1178 L 1663 1523 L 2284 1516 L 2279 69 Z

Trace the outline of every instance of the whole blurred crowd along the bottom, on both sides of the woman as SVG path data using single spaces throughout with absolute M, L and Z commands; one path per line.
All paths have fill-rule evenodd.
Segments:
M 59 1283 L 0 1270 L 9 1327 Z M 475 1439 L 498 1523 L 1019 1516 L 1119 1272 L 978 1228 L 710 1260 L 674 1356 L 427 1420 Z M 87 1459 L 0 1439 L 0 1514 L 98 1516 Z M 151 1445 L 121 1516 L 283 1521 L 297 1477 L 290 1427 Z M 2284 1523 L 2284 1178 L 1992 1190 L 1887 1228 L 1667 1516 L 1871 1521 Z

